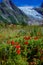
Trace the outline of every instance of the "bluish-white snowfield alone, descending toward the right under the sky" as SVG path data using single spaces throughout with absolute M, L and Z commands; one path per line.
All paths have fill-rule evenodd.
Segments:
M 34 7 L 30 6 L 23 6 L 19 7 L 27 16 L 31 16 L 35 19 L 43 20 L 43 16 L 38 13 L 36 10 L 34 10 Z

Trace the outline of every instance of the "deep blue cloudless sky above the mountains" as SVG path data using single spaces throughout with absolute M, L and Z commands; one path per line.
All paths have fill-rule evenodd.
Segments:
M 40 6 L 43 0 L 12 0 L 12 2 L 17 6 Z

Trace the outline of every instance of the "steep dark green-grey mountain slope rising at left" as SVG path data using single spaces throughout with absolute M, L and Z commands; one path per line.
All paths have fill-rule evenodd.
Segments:
M 17 8 L 11 0 L 3 0 L 0 3 L 0 21 L 5 23 L 23 24 L 27 23 L 29 18 Z

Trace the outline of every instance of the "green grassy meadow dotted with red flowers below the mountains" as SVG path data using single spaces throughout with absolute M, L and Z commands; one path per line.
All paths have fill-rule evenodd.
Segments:
M 1 24 L 0 65 L 43 65 L 43 26 Z

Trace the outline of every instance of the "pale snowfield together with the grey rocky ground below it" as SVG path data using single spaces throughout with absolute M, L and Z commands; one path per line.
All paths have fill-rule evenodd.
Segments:
M 24 6 L 19 7 L 30 19 L 29 24 L 42 24 L 43 16 L 38 13 L 34 7 Z

